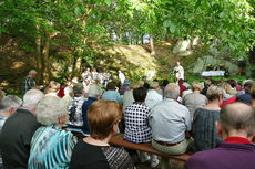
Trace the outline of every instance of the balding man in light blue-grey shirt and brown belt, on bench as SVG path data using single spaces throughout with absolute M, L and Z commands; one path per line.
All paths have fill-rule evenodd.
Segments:
M 152 128 L 152 147 L 166 155 L 182 155 L 192 147 L 190 136 L 191 115 L 188 109 L 178 104 L 180 87 L 169 84 L 165 87 L 165 98 L 157 103 L 150 117 Z

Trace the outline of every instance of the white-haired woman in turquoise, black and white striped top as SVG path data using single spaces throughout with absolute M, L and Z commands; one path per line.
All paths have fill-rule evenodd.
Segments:
M 78 140 L 72 133 L 61 129 L 68 116 L 64 103 L 59 97 L 44 97 L 35 113 L 43 126 L 32 137 L 28 168 L 69 168 Z

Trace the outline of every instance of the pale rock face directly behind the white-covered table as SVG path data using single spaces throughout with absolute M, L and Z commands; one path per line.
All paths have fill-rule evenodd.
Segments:
M 236 75 L 239 67 L 237 66 L 237 63 L 226 61 L 222 57 L 212 56 L 212 55 L 205 55 L 203 57 L 197 59 L 197 61 L 191 65 L 190 70 L 192 73 L 202 73 L 206 70 L 206 65 L 223 65 L 231 75 Z M 213 70 L 211 70 L 213 71 Z

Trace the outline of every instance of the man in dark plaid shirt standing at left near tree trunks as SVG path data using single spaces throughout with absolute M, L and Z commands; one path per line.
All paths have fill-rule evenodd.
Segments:
M 35 78 L 37 71 L 31 70 L 29 72 L 29 75 L 26 76 L 26 78 L 22 81 L 21 89 L 22 95 L 24 95 L 29 89 L 41 89 L 43 86 L 37 86 Z

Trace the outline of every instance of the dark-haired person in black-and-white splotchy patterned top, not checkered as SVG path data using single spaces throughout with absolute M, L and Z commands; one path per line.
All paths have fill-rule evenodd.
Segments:
M 73 93 L 74 96 L 70 99 L 68 106 L 68 128 L 82 133 L 84 130 L 82 104 L 85 102 L 82 83 L 76 83 L 73 86 Z

